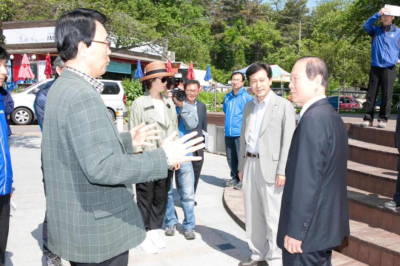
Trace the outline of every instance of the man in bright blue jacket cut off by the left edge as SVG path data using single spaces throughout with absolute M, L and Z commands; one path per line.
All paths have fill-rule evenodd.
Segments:
M 7 75 L 6 63 L 10 55 L 0 47 L 0 87 Z M 10 198 L 12 184 L 12 168 L 10 149 L 8 147 L 7 117 L 4 110 L 3 96 L 0 94 L 0 266 L 4 266 L 8 228 L 10 226 Z

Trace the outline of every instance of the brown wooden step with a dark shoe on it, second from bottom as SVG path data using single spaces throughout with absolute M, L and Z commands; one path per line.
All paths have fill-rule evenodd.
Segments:
M 391 201 L 392 198 L 353 187 L 347 187 L 347 197 L 351 219 L 400 234 L 400 212 L 384 207 L 384 203 Z

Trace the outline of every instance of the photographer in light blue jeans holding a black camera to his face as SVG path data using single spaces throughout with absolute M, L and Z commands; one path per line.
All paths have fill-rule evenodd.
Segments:
M 185 85 L 181 77 L 182 74 L 175 74 L 175 77 L 167 83 L 167 88 L 170 89 L 164 93 L 168 97 L 171 97 L 176 105 L 179 137 L 190 133 L 190 131 L 194 130 L 198 124 L 196 107 L 186 101 L 186 94 L 184 94 L 185 97 L 183 101 L 182 98 L 179 97 L 179 94 L 183 95 L 182 93 L 184 93 L 183 88 Z M 192 153 L 188 153 L 188 156 L 192 155 Z M 194 233 L 196 221 L 194 219 L 194 172 L 192 162 L 188 161 L 178 166 L 178 168 L 175 169 L 175 179 L 178 183 L 177 187 L 180 189 L 180 199 L 185 216 L 182 222 L 183 232 L 186 239 L 194 239 L 196 238 Z M 176 214 L 174 198 L 172 197 L 172 188 L 173 186 L 171 180 L 164 220 L 167 226 L 165 229 L 166 236 L 173 236 L 178 224 L 178 215 Z

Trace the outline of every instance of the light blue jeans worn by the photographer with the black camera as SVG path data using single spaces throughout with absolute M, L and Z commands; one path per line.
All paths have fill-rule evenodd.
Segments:
M 194 173 L 192 162 L 182 163 L 180 169 L 175 171 L 175 178 L 178 180 L 180 189 L 180 200 L 185 218 L 182 222 L 183 229 L 192 229 L 196 226 L 194 220 Z M 174 206 L 174 198 L 172 197 L 172 177 L 171 186 L 168 191 L 167 208 L 165 210 L 165 225 L 170 226 L 178 224 L 178 215 Z

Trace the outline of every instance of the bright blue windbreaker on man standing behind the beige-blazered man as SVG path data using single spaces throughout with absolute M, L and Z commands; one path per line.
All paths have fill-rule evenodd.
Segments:
M 253 97 L 244 88 L 238 91 L 236 97 L 233 95 L 233 90 L 225 95 L 222 105 L 222 110 L 225 113 L 225 136 L 240 136 L 243 108 L 248 101 L 252 100 Z

